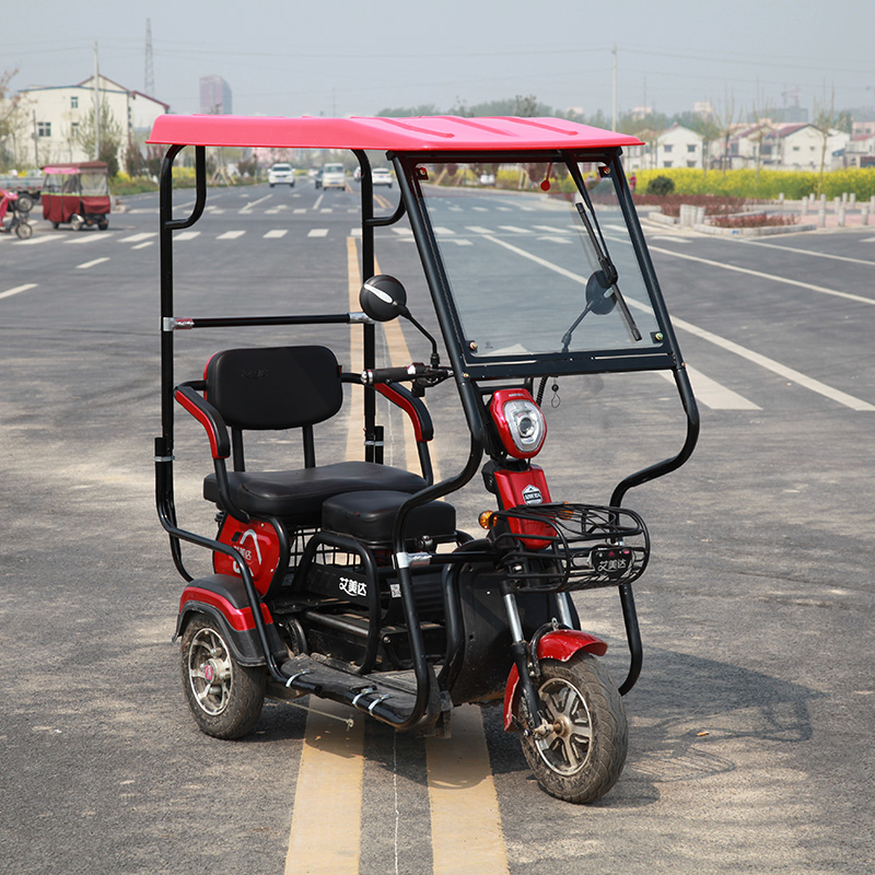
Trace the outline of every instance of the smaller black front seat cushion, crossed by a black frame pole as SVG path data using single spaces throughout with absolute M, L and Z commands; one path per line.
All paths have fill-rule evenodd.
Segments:
M 406 492 L 347 492 L 322 505 L 322 527 L 369 544 L 392 540 L 398 508 L 409 499 Z M 456 509 L 445 501 L 430 501 L 413 508 L 405 533 L 409 538 L 423 535 L 452 535 L 456 530 Z

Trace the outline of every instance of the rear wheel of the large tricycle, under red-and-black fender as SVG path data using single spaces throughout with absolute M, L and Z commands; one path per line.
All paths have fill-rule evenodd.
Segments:
M 217 622 L 194 617 L 183 634 L 183 689 L 198 728 L 214 738 L 240 738 L 261 715 L 262 666 L 241 665 Z

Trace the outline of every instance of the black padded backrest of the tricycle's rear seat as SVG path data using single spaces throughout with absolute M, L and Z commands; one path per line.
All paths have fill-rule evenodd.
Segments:
M 327 347 L 229 349 L 207 363 L 207 399 L 232 429 L 295 429 L 330 419 L 343 402 Z

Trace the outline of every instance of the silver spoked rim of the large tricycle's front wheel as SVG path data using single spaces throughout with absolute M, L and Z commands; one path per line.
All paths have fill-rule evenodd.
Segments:
M 550 730 L 535 738 L 538 754 L 557 774 L 576 774 L 593 751 L 593 721 L 581 691 L 568 680 L 550 678 L 538 690 Z

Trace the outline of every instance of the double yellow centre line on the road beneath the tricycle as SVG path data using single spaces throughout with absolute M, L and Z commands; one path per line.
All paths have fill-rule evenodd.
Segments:
M 358 311 L 361 285 L 355 241 L 347 241 L 350 311 Z M 409 364 L 410 352 L 397 320 L 384 324 L 393 365 Z M 350 368 L 362 361 L 362 332 L 351 327 Z M 347 457 L 361 458 L 362 393 L 349 410 Z M 407 436 L 410 432 L 405 430 Z M 410 470 L 418 469 L 413 441 L 406 440 Z M 342 716 L 349 709 L 320 701 Z M 361 852 L 364 718 L 351 730 L 311 712 L 295 788 L 284 875 L 358 875 Z M 434 875 L 508 875 L 495 785 L 479 707 L 453 712 L 453 737 L 425 742 Z

